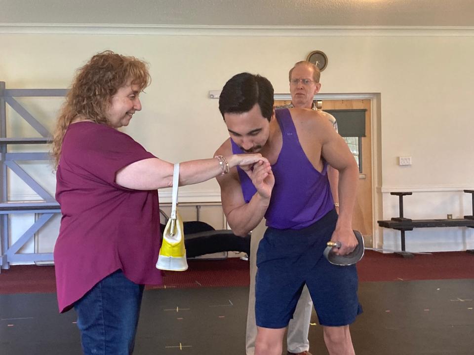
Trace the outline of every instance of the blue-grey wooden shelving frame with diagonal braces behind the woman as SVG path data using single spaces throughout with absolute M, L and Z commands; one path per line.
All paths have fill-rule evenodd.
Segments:
M 6 89 L 5 82 L 0 81 L 0 271 L 8 269 L 11 262 L 51 261 L 52 253 L 18 253 L 35 233 L 51 219 L 55 213 L 60 213 L 59 205 L 41 184 L 32 178 L 20 165 L 19 161 L 49 160 L 47 152 L 9 152 L 11 144 L 48 144 L 50 132 L 25 109 L 15 98 L 18 97 L 64 97 L 67 89 Z M 10 106 L 21 118 L 30 124 L 38 137 L 7 137 L 7 106 Z M 22 179 L 42 201 L 9 201 L 8 170 Z M 10 245 L 9 219 L 15 213 L 30 213 L 37 217 L 31 226 Z

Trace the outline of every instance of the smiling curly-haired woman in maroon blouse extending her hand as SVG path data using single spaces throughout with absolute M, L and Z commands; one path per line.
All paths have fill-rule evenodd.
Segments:
M 149 83 L 146 63 L 96 54 L 78 70 L 57 120 L 57 296 L 60 312 L 77 312 L 84 354 L 131 354 L 144 284 L 161 281 L 157 189 L 172 186 L 173 164 L 118 131 L 141 110 Z M 183 162 L 179 184 L 259 161 L 241 154 Z

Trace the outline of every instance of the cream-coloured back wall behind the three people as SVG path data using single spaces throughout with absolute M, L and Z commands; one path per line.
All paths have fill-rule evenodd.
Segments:
M 457 194 L 459 189 L 474 187 L 474 33 L 437 35 L 3 34 L 0 81 L 7 88 L 64 88 L 75 69 L 98 51 L 112 49 L 145 59 L 150 63 L 152 84 L 142 94 L 143 110 L 124 131 L 158 157 L 182 161 L 212 156 L 227 138 L 218 100 L 207 97 L 209 90 L 221 89 L 237 72 L 250 71 L 268 77 L 276 93 L 287 93 L 287 71 L 292 64 L 312 50 L 323 50 L 329 65 L 321 76 L 321 93 L 380 93 L 380 117 L 376 117 L 381 133 L 379 192 L 428 188 L 435 200 L 420 214 L 440 218 L 453 211 L 470 212 L 470 199 L 450 200 L 452 206 L 446 208 L 438 192 L 448 189 Z M 57 107 L 54 103 L 42 108 L 46 121 L 51 122 Z M 398 166 L 398 156 L 411 156 L 412 166 Z M 217 183 L 209 181 L 182 188 L 180 193 L 208 201 L 218 199 L 218 191 Z M 12 195 L 21 195 L 21 189 Z M 397 211 L 397 200 L 380 196 L 377 213 L 389 218 L 394 208 Z M 464 238 L 463 245 L 474 247 L 472 231 L 455 229 L 454 233 Z M 396 236 L 384 238 L 384 244 L 395 240 Z M 445 243 L 441 249 L 459 249 L 459 243 Z

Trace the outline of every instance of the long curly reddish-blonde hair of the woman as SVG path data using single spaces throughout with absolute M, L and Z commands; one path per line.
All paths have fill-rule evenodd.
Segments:
M 110 50 L 94 55 L 78 69 L 53 135 L 51 155 L 55 169 L 59 164 L 64 135 L 71 122 L 80 116 L 98 124 L 109 125 L 105 113 L 111 99 L 130 78 L 143 91 L 151 82 L 148 64 Z

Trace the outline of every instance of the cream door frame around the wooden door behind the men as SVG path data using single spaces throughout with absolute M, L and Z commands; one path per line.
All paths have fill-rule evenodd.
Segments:
M 290 94 L 274 94 L 275 100 L 290 100 Z M 380 93 L 317 94 L 315 100 L 370 100 L 370 129 L 372 135 L 372 236 L 373 247 L 381 248 L 377 220 L 382 217 L 382 143 Z

